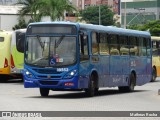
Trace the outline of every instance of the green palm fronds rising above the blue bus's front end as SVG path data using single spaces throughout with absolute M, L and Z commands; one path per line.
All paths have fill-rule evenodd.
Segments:
M 60 20 L 64 19 L 65 12 L 76 11 L 68 0 L 19 0 L 16 4 L 24 6 L 19 14 L 30 14 L 33 21 L 40 21 L 43 16 L 50 16 L 53 21 Z

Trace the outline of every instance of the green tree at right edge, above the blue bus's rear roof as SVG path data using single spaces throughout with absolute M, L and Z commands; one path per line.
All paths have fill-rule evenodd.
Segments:
M 150 21 L 144 25 L 132 25 L 129 29 L 150 31 L 152 36 L 160 36 L 160 20 Z

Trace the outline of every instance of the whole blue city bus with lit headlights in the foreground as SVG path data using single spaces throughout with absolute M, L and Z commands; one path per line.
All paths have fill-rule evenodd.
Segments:
M 84 90 L 94 96 L 100 87 L 134 91 L 151 80 L 149 32 L 72 22 L 38 22 L 27 27 L 24 86 L 50 90 Z

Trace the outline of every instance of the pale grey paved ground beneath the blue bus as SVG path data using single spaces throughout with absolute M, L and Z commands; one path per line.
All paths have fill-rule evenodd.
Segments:
M 39 89 L 24 88 L 23 82 L 9 80 L 0 83 L 0 111 L 160 111 L 158 89 L 160 78 L 136 86 L 132 93 L 103 88 L 91 98 L 80 91 L 50 91 L 48 97 L 41 97 Z

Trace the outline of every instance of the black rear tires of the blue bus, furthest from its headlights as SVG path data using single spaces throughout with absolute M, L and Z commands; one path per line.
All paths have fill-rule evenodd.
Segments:
M 130 81 L 128 86 L 118 87 L 120 92 L 133 92 L 136 84 L 136 78 L 133 73 L 130 75 Z

